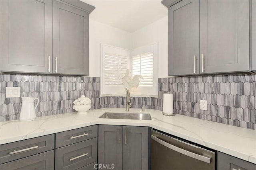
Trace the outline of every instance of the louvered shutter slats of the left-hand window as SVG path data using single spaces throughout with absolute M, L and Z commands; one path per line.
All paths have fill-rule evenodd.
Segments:
M 105 84 L 122 85 L 122 78 L 127 68 L 127 56 L 105 53 Z

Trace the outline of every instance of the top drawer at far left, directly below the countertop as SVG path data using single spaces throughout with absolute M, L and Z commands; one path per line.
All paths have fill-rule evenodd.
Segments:
M 0 145 L 0 164 L 54 149 L 54 134 Z

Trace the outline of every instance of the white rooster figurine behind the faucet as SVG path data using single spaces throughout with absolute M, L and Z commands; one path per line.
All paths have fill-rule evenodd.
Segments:
M 125 90 L 130 90 L 131 88 L 137 88 L 140 84 L 140 79 L 143 79 L 141 75 L 131 76 L 131 70 L 127 69 L 123 78 L 123 84 Z

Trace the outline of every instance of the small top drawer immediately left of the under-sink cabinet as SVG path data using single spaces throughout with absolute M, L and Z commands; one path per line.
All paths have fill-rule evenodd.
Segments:
M 71 145 L 98 136 L 98 125 L 82 127 L 70 131 L 56 133 L 56 148 Z

